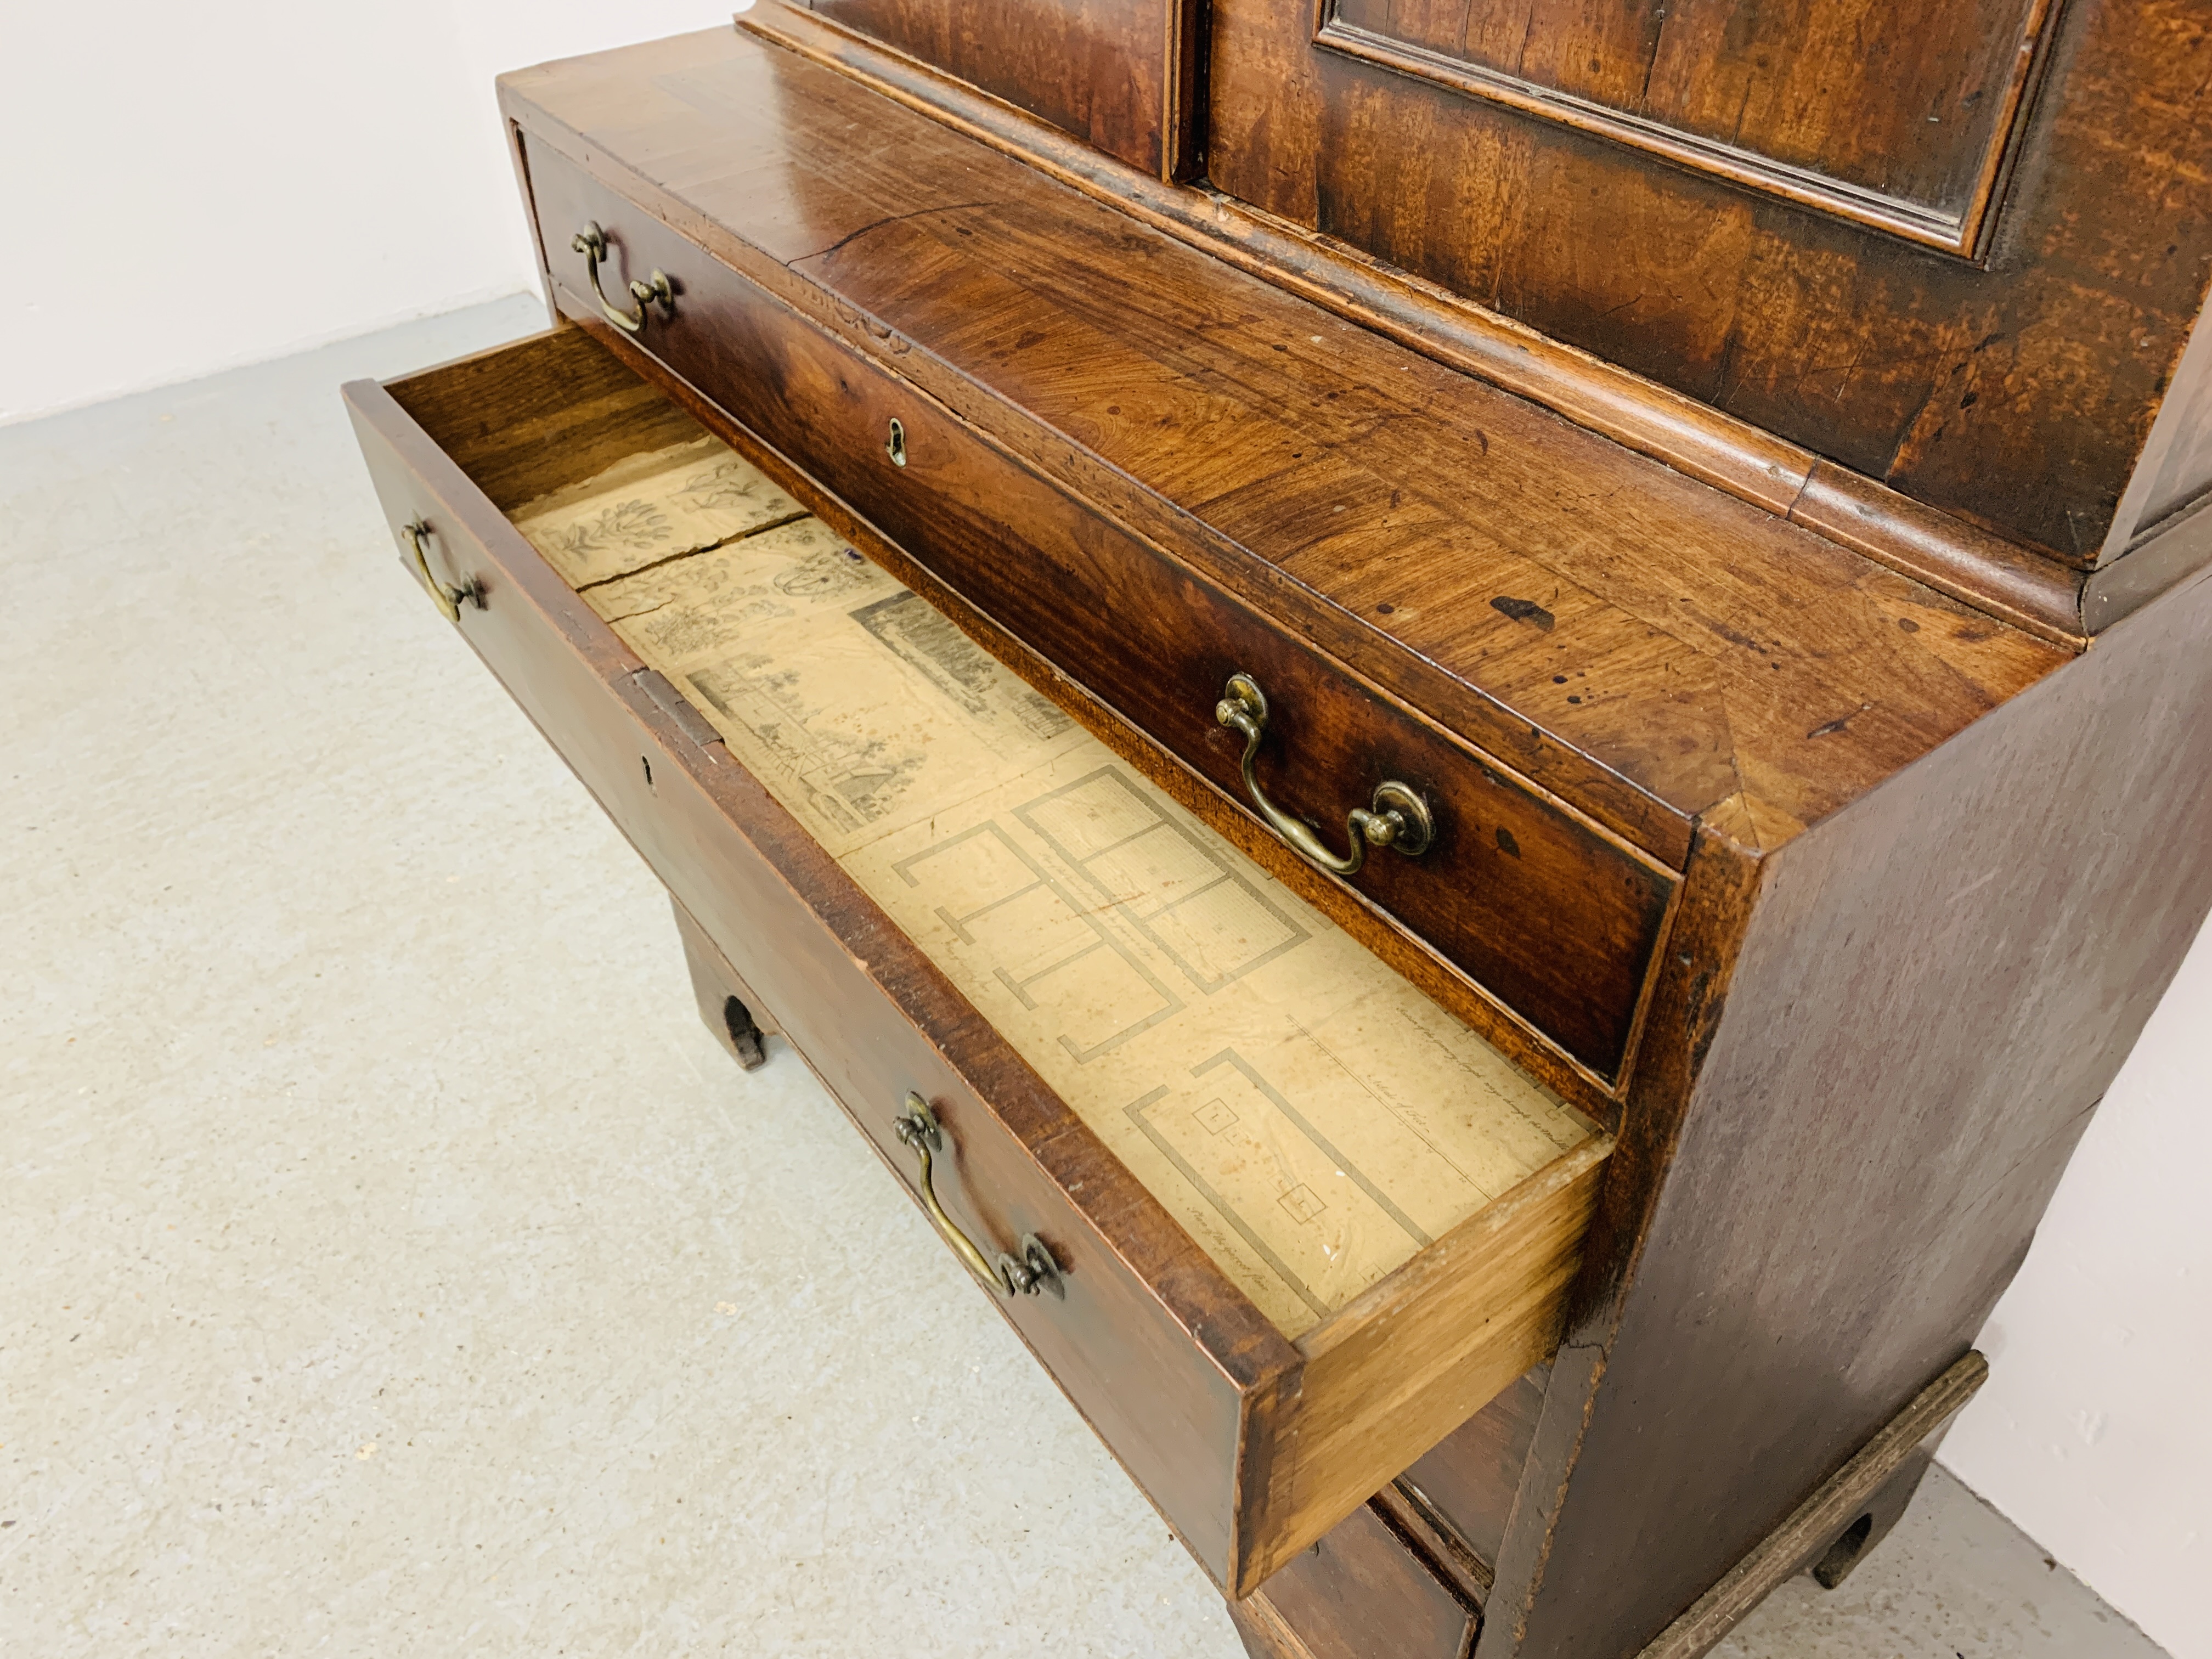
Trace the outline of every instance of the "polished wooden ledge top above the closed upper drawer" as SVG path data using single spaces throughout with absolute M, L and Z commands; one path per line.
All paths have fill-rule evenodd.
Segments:
M 2064 659 L 757 40 L 504 97 L 533 146 L 1668 863 L 1699 814 L 1778 845 Z

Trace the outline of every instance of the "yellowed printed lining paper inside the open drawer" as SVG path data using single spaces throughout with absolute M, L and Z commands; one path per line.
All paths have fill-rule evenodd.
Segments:
M 515 524 L 1287 1336 L 1593 1133 L 714 451 Z

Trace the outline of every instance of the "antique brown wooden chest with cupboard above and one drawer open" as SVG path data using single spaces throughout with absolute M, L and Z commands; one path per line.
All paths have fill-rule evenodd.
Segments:
M 1714 11 L 763 0 L 347 387 L 1254 1655 L 1847 1573 L 2212 907 L 2205 24 Z

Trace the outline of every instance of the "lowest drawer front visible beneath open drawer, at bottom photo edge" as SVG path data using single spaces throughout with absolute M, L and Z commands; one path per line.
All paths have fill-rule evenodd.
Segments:
M 1358 1509 L 1314 1548 L 1230 1606 L 1254 1659 L 1462 1659 L 1473 1608 L 1376 1509 Z

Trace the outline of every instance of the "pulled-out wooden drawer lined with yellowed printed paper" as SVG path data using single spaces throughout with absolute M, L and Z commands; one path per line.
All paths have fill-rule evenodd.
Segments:
M 1588 1119 L 586 332 L 345 396 L 405 566 L 1232 1597 L 1548 1356 Z

